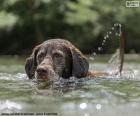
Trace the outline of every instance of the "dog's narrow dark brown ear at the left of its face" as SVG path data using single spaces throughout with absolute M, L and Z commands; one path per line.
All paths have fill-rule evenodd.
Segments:
M 39 50 L 39 46 L 35 47 L 31 56 L 26 59 L 25 62 L 25 71 L 29 77 L 29 79 L 33 79 L 35 75 L 35 70 L 37 66 L 36 56 Z

